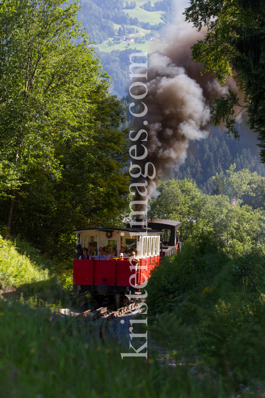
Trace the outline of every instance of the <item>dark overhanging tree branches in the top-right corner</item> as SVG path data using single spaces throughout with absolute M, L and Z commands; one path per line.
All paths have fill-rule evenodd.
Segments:
M 204 64 L 204 72 L 213 70 L 221 84 L 234 77 L 244 93 L 242 102 L 232 90 L 216 99 L 212 107 L 215 124 L 223 119 L 228 133 L 238 137 L 236 116 L 245 109 L 247 124 L 258 133 L 265 162 L 265 3 L 191 0 L 185 15 L 198 30 L 207 27 L 205 39 L 192 47 L 193 59 Z

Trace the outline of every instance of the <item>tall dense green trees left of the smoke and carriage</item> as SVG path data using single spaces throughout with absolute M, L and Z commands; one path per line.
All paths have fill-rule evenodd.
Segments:
M 77 4 L 60 5 L 0 5 L 7 76 L 0 80 L 0 221 L 47 255 L 68 259 L 71 229 L 120 219 L 127 132 L 121 102 L 109 95 L 109 77 L 79 29 Z

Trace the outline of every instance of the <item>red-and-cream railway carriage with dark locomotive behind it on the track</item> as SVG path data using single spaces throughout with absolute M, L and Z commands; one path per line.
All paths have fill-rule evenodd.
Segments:
M 88 248 L 91 259 L 74 260 L 73 291 L 80 295 L 89 292 L 98 301 L 105 295 L 114 298 L 138 292 L 161 257 L 177 251 L 177 227 L 181 225 L 178 221 L 147 220 L 141 228 L 127 225 L 127 228 L 74 230 L 77 245 Z M 106 260 L 98 259 L 101 247 L 108 257 Z

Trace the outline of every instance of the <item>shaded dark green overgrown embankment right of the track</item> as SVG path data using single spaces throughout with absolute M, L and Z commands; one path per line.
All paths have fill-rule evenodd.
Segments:
M 154 315 L 171 313 L 176 325 L 178 320 L 197 363 L 210 364 L 244 384 L 264 380 L 263 258 L 231 258 L 217 249 L 200 253 L 189 245 L 162 262 L 148 287 L 149 310 Z M 171 354 L 181 357 L 182 343 L 171 336 L 170 344 Z

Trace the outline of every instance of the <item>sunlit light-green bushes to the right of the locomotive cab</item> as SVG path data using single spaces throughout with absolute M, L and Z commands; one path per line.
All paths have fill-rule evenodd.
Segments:
M 215 186 L 217 177 L 214 177 Z M 196 243 L 205 250 L 208 246 L 218 247 L 230 256 L 245 251 L 264 253 L 265 210 L 253 210 L 247 204 L 258 183 L 256 173 L 237 172 L 234 166 L 218 195 L 204 194 L 191 180 L 162 181 L 158 186 L 159 197 L 150 202 L 150 212 L 158 219 L 180 220 L 184 242 Z M 232 199 L 238 200 L 236 207 L 232 206 Z M 260 198 L 263 205 L 264 199 L 263 191 Z

